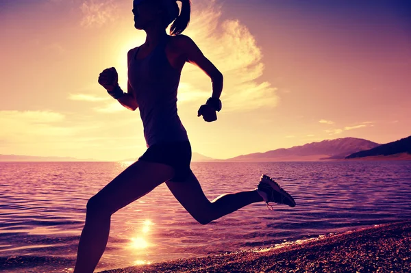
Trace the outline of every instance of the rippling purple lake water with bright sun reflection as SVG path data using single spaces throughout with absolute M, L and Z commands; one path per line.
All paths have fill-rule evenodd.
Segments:
M 88 198 L 127 164 L 0 162 L 1 272 L 73 272 Z M 197 223 L 166 185 L 112 216 L 96 271 L 273 246 L 411 217 L 411 161 L 192 163 L 206 196 L 268 174 L 297 206 L 254 203 Z

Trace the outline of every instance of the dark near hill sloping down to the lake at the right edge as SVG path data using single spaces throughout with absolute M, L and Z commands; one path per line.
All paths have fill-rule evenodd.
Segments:
M 366 151 L 360 151 L 358 153 L 353 153 L 348 155 L 347 159 L 351 158 L 358 158 L 358 157 L 371 157 L 371 156 L 378 156 L 378 155 L 396 155 L 399 153 L 407 153 L 411 155 L 411 136 L 408 138 L 401 138 L 401 140 L 397 140 L 395 142 L 389 142 L 387 144 L 382 144 L 375 148 L 371 148 Z

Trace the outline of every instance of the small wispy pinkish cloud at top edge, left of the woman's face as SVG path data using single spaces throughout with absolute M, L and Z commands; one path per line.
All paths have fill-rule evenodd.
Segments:
M 80 5 L 83 18 L 82 27 L 101 27 L 119 16 L 118 5 L 114 0 L 85 0 Z

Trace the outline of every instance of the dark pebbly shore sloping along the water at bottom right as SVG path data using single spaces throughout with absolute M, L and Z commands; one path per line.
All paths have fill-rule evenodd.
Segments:
M 104 273 L 411 272 L 411 220 L 208 257 Z

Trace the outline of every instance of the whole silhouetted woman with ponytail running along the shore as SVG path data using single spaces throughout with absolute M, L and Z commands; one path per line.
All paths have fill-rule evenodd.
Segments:
M 190 170 L 191 146 L 177 115 L 177 88 L 186 62 L 201 68 L 212 81 L 212 96 L 199 107 L 198 116 L 213 122 L 222 107 L 223 75 L 191 38 L 181 34 L 190 21 L 191 3 L 179 1 L 181 12 L 175 0 L 133 1 L 134 27 L 147 37 L 127 53 L 127 93 L 119 87 L 115 68 L 99 75 L 108 94 L 127 109 L 140 110 L 147 151 L 88 200 L 74 273 L 95 270 L 108 242 L 112 214 L 162 183 L 200 224 L 256 202 L 295 207 L 290 194 L 265 174 L 255 190 L 223 194 L 211 202 L 201 190 Z M 169 35 L 166 28 L 171 23 Z

